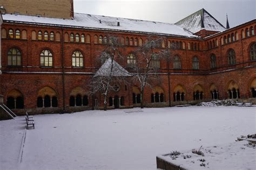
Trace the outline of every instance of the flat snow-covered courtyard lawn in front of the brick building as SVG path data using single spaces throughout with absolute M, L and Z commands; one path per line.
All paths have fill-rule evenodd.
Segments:
M 21 164 L 25 117 L 0 121 L 0 169 L 156 169 L 159 154 L 227 144 L 256 131 L 256 107 L 124 111 L 34 115 Z

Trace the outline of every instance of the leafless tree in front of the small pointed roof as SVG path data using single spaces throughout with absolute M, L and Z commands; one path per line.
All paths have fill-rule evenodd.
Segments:
M 115 82 L 125 82 L 125 77 L 130 76 L 122 66 L 120 66 L 114 57 L 120 55 L 120 41 L 118 37 L 108 36 L 104 38 L 105 48 L 100 52 L 98 62 L 104 63 L 90 81 L 90 93 L 100 93 L 104 96 L 104 110 L 107 109 L 107 95 L 110 90 L 116 90 Z

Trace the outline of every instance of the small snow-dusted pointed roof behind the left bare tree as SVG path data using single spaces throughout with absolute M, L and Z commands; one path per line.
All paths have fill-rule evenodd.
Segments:
M 112 65 L 113 64 L 113 65 Z M 112 67 L 112 71 L 111 71 Z M 98 77 L 98 76 L 114 76 L 114 77 L 119 77 L 119 76 L 131 76 L 130 73 L 125 70 L 122 66 L 120 66 L 115 60 L 109 58 L 105 61 L 105 63 L 99 68 L 99 70 L 95 73 L 93 77 Z

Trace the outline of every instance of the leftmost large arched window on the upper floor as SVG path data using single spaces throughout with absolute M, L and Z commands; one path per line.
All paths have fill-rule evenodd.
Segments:
M 10 66 L 21 65 L 21 52 L 18 49 L 16 48 L 10 49 L 8 51 L 7 58 L 8 58 L 8 65 Z

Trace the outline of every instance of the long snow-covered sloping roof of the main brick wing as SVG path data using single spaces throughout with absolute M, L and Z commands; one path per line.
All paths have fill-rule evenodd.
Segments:
M 186 37 L 198 37 L 175 24 L 142 21 L 139 19 L 89 15 L 84 13 L 75 13 L 75 17 L 73 19 L 12 15 L 6 13 L 3 15 L 3 20 L 4 22 L 25 22 L 30 24 L 71 26 L 96 30 L 145 32 Z M 117 26 L 118 22 L 120 23 L 120 26 Z

